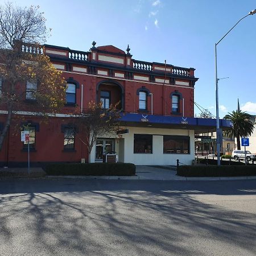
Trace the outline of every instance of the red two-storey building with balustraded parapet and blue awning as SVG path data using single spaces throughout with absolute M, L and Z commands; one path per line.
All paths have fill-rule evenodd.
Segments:
M 216 119 L 194 118 L 194 68 L 133 59 L 114 46 L 93 47 L 88 52 L 45 45 L 45 52 L 67 80 L 63 113 L 41 122 L 31 113 L 23 115 L 20 125 L 30 125 L 31 165 L 48 162 L 101 162 L 105 152 L 115 152 L 119 162 L 174 165 L 176 159 L 191 164 L 195 157 L 195 133 L 216 130 Z M 22 51 L 31 51 L 23 45 Z M 2 85 L 4 86 L 4 85 Z M 27 82 L 24 89 L 30 90 Z M 29 97 L 29 94 L 26 94 Z M 85 134 L 72 126 L 76 106 L 86 111 L 89 101 L 101 101 L 103 108 L 119 102 L 122 137 L 97 138 L 91 154 L 82 142 Z M 1 110 L 1 122 L 6 118 Z M 1 121 L 2 120 L 2 121 Z M 222 129 L 230 122 L 220 120 Z M 25 165 L 27 143 L 11 127 L 0 152 L 2 166 Z

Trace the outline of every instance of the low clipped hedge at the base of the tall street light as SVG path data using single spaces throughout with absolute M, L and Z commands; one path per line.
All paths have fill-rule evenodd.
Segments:
M 185 177 L 256 176 L 256 164 L 251 166 L 179 166 L 177 175 Z

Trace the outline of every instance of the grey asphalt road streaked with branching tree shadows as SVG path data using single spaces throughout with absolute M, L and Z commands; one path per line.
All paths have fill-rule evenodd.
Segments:
M 0 180 L 1 255 L 255 255 L 256 181 Z

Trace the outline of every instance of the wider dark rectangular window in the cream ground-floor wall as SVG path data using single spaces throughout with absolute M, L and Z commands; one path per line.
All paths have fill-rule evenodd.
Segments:
M 189 154 L 189 137 L 181 135 L 164 135 L 164 154 Z

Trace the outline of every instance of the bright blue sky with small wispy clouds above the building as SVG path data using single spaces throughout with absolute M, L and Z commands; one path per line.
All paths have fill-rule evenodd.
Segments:
M 0 2 L 4 2 L 0 0 Z M 52 28 L 48 44 L 88 51 L 113 44 L 134 59 L 196 68 L 195 102 L 214 115 L 214 43 L 256 9 L 253 0 L 16 0 L 39 5 Z M 256 114 L 256 14 L 217 46 L 220 117 L 237 109 Z M 195 106 L 195 113 L 200 110 Z

